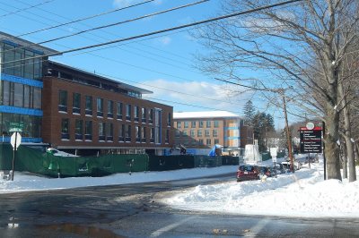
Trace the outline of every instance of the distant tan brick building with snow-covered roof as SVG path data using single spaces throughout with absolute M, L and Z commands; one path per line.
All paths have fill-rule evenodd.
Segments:
M 253 143 L 253 129 L 243 125 L 240 115 L 226 111 L 173 113 L 174 144 L 187 149 L 244 148 Z

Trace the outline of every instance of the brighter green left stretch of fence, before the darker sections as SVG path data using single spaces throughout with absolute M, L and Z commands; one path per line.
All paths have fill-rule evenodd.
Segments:
M 11 170 L 13 148 L 0 146 L 0 169 Z M 15 171 L 28 171 L 57 177 L 104 176 L 115 173 L 148 170 L 147 155 L 106 155 L 101 157 L 57 157 L 38 149 L 20 146 L 16 153 Z

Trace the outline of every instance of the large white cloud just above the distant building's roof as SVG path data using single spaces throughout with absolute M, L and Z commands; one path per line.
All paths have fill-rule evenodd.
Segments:
M 206 81 L 144 81 L 140 88 L 149 89 L 153 94 L 147 97 L 159 98 L 163 104 L 173 106 L 178 111 L 227 110 L 241 114 L 249 94 L 239 94 L 236 89 Z M 144 98 L 146 95 L 144 95 Z M 177 104 L 178 103 L 178 104 Z M 183 106 L 181 104 L 193 105 Z M 202 106 L 202 107 L 201 107 Z M 208 108 L 204 108 L 208 107 Z

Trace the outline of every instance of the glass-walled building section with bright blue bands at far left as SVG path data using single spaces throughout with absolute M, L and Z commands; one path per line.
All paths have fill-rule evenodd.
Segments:
M 0 38 L 1 140 L 10 141 L 11 123 L 23 123 L 22 142 L 42 142 L 42 55 L 56 51 L 3 32 Z

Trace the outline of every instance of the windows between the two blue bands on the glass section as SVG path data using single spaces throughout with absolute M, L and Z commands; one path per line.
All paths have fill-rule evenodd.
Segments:
M 0 105 L 41 109 L 42 90 L 12 81 L 1 81 Z

